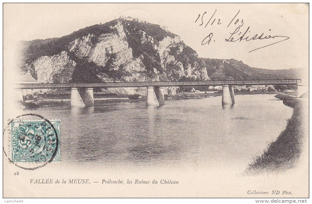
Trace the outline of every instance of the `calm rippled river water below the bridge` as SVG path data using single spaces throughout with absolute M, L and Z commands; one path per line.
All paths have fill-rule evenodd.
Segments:
M 93 107 L 27 109 L 61 119 L 61 162 L 67 165 L 245 169 L 285 128 L 292 108 L 272 94 L 221 96 Z

